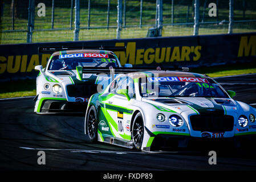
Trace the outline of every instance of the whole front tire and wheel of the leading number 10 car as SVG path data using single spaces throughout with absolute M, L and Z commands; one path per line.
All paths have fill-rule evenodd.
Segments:
M 141 150 L 144 137 L 144 121 L 141 113 L 137 113 L 132 124 L 132 141 L 137 150 Z

